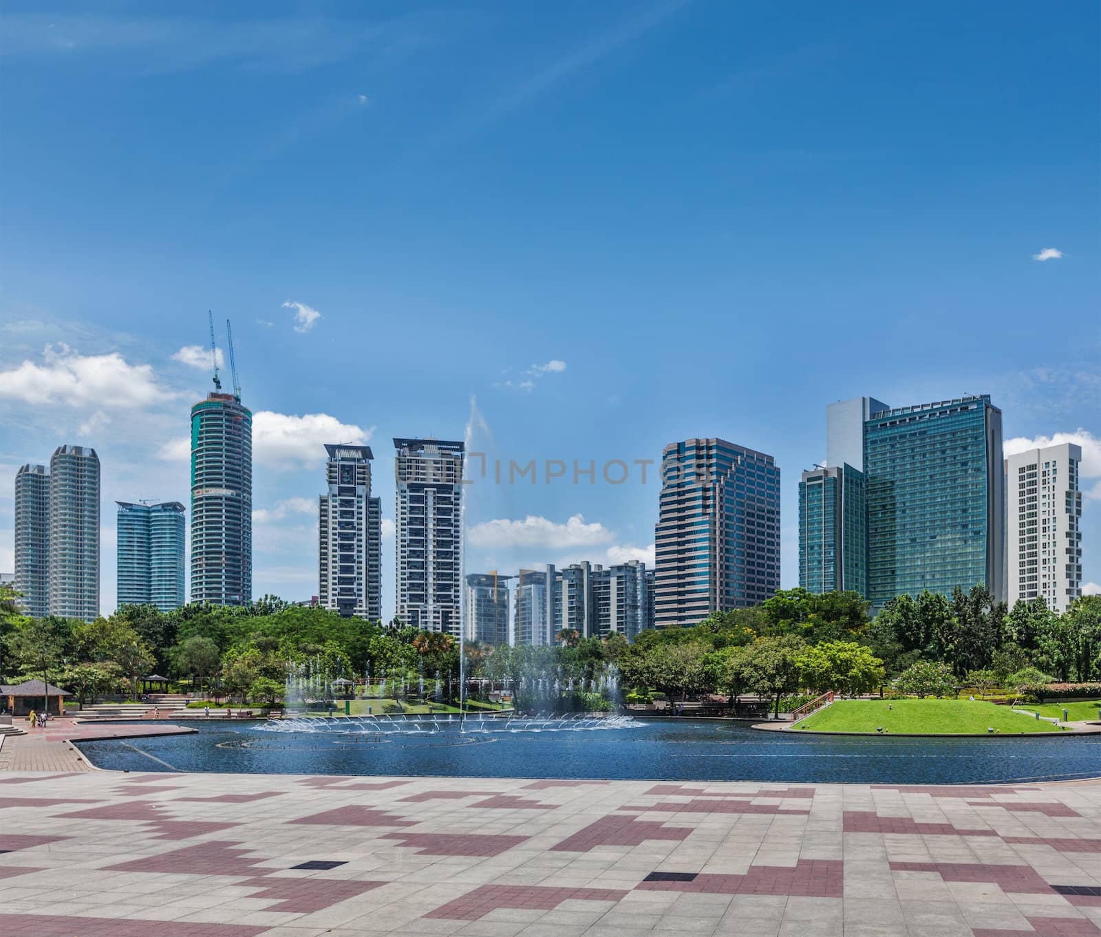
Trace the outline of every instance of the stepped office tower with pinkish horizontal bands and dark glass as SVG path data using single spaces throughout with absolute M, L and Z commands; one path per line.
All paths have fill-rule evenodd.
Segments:
M 724 439 L 662 453 L 655 532 L 657 628 L 756 606 L 780 588 L 780 469 Z

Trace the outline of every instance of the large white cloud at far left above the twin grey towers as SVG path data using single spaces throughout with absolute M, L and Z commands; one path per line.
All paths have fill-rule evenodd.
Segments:
M 156 382 L 149 364 L 128 364 L 117 351 L 81 355 L 64 342 L 47 345 L 41 364 L 23 361 L 0 371 L 0 399 L 30 404 L 130 408 L 176 396 Z

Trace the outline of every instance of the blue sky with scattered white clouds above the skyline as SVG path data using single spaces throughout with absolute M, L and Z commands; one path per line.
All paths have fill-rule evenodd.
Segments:
M 775 455 L 792 586 L 799 471 L 861 393 L 985 392 L 1007 438 L 1081 440 L 1101 584 L 1098 25 L 1034 2 L 9 3 L 0 472 L 96 446 L 112 608 L 113 500 L 187 499 L 212 308 L 258 413 L 258 593 L 316 592 L 323 443 L 374 447 L 392 517 L 391 437 L 468 423 L 521 464 L 696 435 Z M 653 476 L 570 481 L 472 487 L 468 568 L 647 555 Z M 11 527 L 9 481 L 0 570 Z

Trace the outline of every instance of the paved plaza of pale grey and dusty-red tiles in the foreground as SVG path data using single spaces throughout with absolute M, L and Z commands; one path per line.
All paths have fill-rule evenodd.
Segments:
M 3 937 L 1101 935 L 1101 784 L 0 774 Z

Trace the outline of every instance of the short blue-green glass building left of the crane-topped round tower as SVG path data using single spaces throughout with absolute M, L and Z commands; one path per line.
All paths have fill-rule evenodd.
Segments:
M 184 604 L 186 508 L 178 501 L 118 504 L 118 603 Z

